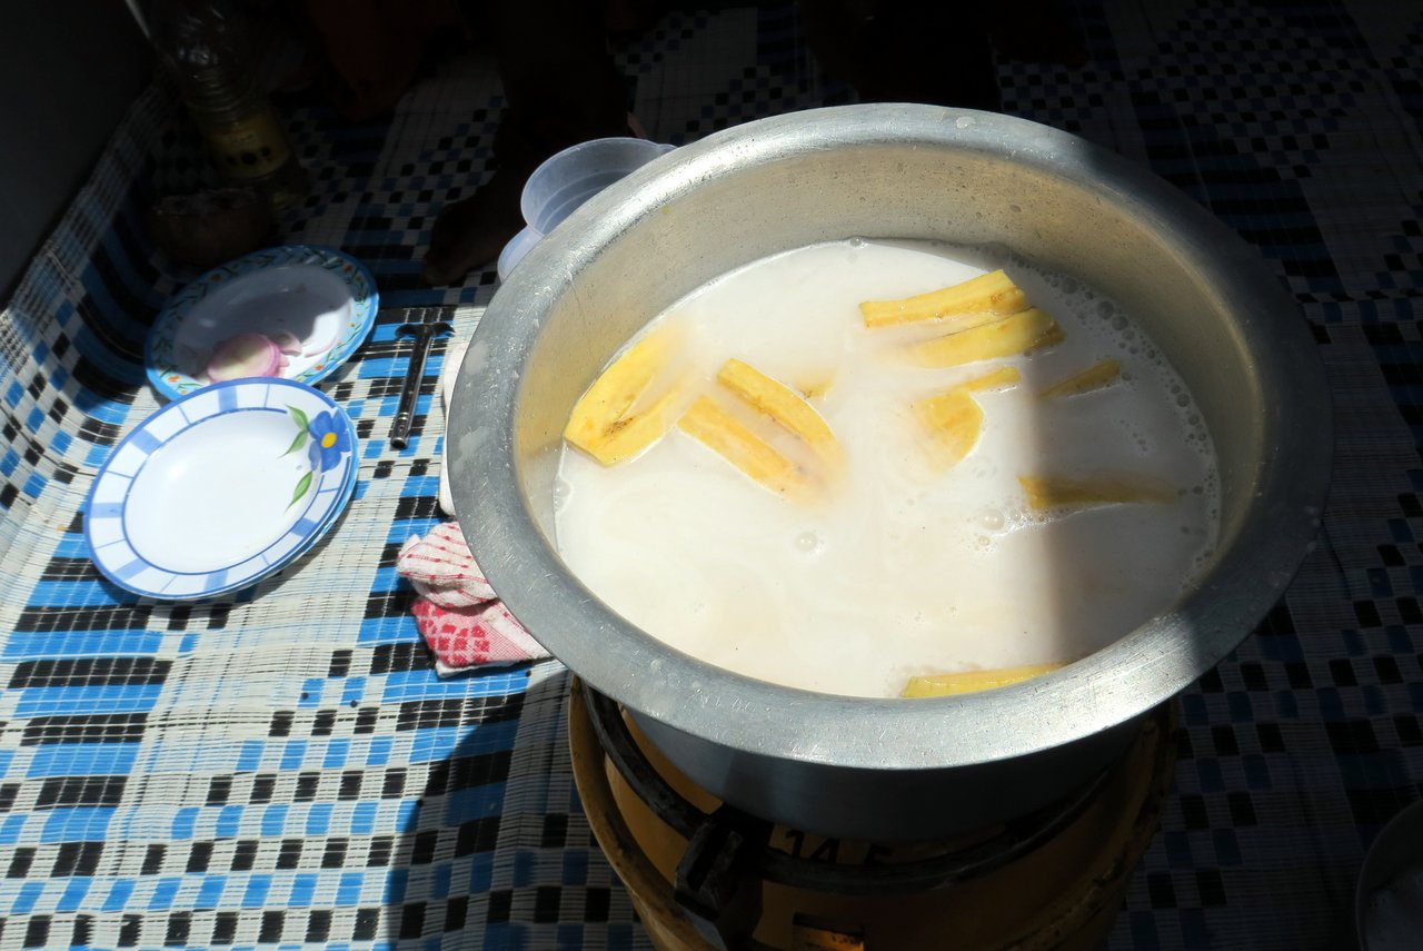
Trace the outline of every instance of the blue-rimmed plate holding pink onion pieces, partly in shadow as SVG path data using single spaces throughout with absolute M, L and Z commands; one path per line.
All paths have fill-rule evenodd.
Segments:
M 317 383 L 370 335 L 379 295 L 370 272 L 330 248 L 283 245 L 213 268 L 175 293 L 144 347 L 148 382 L 176 399 L 212 380 L 213 349 L 239 333 L 289 333 L 300 352 L 282 377 Z

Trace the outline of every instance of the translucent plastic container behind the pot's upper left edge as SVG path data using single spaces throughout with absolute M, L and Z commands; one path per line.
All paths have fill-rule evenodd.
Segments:
M 643 138 L 595 138 L 544 159 L 524 184 L 519 211 L 527 226 L 499 252 L 499 280 L 573 209 L 673 148 Z

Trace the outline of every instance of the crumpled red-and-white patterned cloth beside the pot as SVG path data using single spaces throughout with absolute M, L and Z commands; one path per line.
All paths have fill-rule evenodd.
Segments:
M 494 594 L 457 522 L 408 538 L 396 571 L 420 595 L 410 612 L 441 676 L 549 656 Z

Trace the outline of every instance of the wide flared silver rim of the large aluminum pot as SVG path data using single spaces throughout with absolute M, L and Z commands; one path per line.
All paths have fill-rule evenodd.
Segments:
M 1266 446 L 1235 540 L 1175 608 L 1056 672 L 995 690 L 918 700 L 814 693 L 684 655 L 605 606 L 546 542 L 521 488 L 512 438 L 522 367 L 576 272 L 657 208 L 746 164 L 877 144 L 1010 157 L 1170 226 L 1173 248 L 1235 310 L 1266 394 Z M 562 278 L 549 278 L 562 275 Z M 1261 347 L 1268 345 L 1268 350 Z M 942 769 L 1063 746 L 1185 689 L 1284 595 L 1319 525 L 1332 410 L 1295 302 L 1258 253 L 1184 194 L 1114 152 L 1027 120 L 912 104 L 808 110 L 682 147 L 613 184 L 529 252 L 471 339 L 448 417 L 460 524 L 509 611 L 599 692 L 689 735 L 747 753 L 850 769 Z

